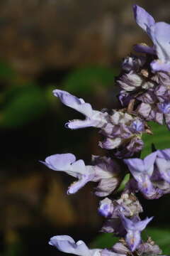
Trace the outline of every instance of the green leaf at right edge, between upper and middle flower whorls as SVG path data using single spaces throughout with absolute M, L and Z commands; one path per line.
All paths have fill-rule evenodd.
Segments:
M 152 151 L 152 143 L 156 149 L 166 149 L 169 148 L 170 142 L 170 132 L 167 129 L 166 125 L 160 125 L 155 122 L 148 123 L 152 128 L 153 135 L 144 134 L 142 139 L 145 143 L 145 147 L 142 150 L 141 157 L 144 158 L 147 154 L 150 154 Z

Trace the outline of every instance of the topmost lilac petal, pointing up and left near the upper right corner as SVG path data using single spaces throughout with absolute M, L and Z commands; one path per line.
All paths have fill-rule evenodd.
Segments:
M 145 31 L 149 34 L 148 28 L 153 26 L 155 21 L 154 18 L 148 14 L 145 9 L 143 9 L 140 6 L 134 5 L 133 6 L 133 12 L 135 16 L 135 21 L 136 23 Z

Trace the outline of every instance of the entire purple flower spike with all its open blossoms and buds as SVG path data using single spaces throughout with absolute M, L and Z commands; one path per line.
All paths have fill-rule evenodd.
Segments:
M 106 218 L 101 232 L 113 233 L 120 238 L 110 249 L 89 249 L 68 235 L 57 235 L 50 245 L 62 252 L 79 256 L 157 256 L 162 254 L 151 238 L 143 241 L 141 232 L 152 220 L 141 220 L 142 206 L 135 194 L 157 199 L 170 193 L 170 149 L 156 150 L 145 159 L 139 159 L 143 147 L 142 134 L 152 134 L 147 121 L 166 123 L 170 129 L 170 25 L 156 23 L 140 6 L 134 6 L 135 21 L 147 32 L 153 46 L 145 43 L 134 48 L 142 56 L 130 55 L 123 60 L 122 73 L 117 79 L 120 86 L 120 110 L 93 110 L 89 103 L 69 92 L 54 90 L 64 105 L 72 107 L 85 119 L 67 122 L 69 129 L 99 128 L 103 140 L 98 143 L 110 151 L 108 156 L 92 156 L 91 164 L 77 160 L 73 154 L 55 154 L 42 161 L 48 168 L 77 178 L 67 193 L 77 193 L 89 181 L 97 182 L 96 196 L 103 197 L 98 213 Z M 120 198 L 113 198 L 120 183 L 129 174 Z M 109 196 L 106 197 L 106 196 Z

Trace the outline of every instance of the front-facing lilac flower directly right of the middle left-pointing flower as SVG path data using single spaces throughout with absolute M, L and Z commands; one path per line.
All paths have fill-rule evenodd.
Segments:
M 157 194 L 154 186 L 152 185 L 151 176 L 154 171 L 154 162 L 157 157 L 157 152 L 149 154 L 149 156 L 142 159 L 125 159 L 125 164 L 132 176 L 137 181 L 139 190 L 146 198 L 154 198 Z

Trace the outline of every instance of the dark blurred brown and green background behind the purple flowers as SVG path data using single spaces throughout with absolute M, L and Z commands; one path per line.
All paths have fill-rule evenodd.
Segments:
M 135 24 L 132 4 L 170 22 L 166 0 L 1 0 L 1 256 L 64 255 L 47 245 L 52 235 L 86 242 L 98 235 L 103 220 L 94 184 L 67 196 L 72 178 L 39 160 L 70 152 L 88 164 L 91 154 L 104 154 L 98 130 L 64 128 L 81 115 L 52 90 L 68 90 L 98 110 L 118 107 L 114 78 L 120 63 L 135 43 L 150 43 Z M 154 132 L 153 139 L 144 138 L 143 156 L 152 141 L 160 149 L 169 147 L 166 128 L 154 125 Z M 155 216 L 154 228 L 169 230 L 169 195 L 141 201 L 145 215 Z

